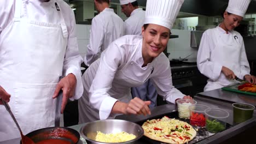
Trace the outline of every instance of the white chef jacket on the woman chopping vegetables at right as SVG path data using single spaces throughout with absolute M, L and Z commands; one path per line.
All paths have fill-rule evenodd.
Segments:
M 234 45 L 234 47 L 237 47 L 234 49 L 234 53 L 237 52 L 239 55 L 230 59 L 233 52 L 225 52 L 225 49 L 221 45 Z M 229 59 L 231 62 L 226 63 L 226 59 Z M 234 65 L 236 69 L 232 68 L 231 65 Z M 208 29 L 203 33 L 197 53 L 197 67 L 203 75 L 209 78 L 204 91 L 210 91 L 236 83 L 235 80 L 227 79 L 221 72 L 223 66 L 234 71 L 235 75 L 240 77 L 240 79 L 243 79 L 243 76 L 250 72 L 241 34 L 233 30 L 226 34 L 224 29 L 218 26 Z

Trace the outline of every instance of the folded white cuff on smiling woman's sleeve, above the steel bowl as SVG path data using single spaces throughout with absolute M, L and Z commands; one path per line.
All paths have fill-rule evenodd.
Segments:
M 117 99 L 112 97 L 106 97 L 101 103 L 101 107 L 99 110 L 100 119 L 107 119 L 112 111 L 112 107 L 117 102 Z M 111 115 L 112 116 L 112 115 Z M 112 116 L 113 117 L 113 116 Z

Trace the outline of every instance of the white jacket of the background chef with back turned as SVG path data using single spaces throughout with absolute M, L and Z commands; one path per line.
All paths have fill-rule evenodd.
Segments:
M 101 52 L 117 38 L 124 35 L 124 21 L 114 13 L 113 9 L 105 8 L 92 19 L 90 31 L 90 44 L 84 58 L 86 65 L 96 61 Z

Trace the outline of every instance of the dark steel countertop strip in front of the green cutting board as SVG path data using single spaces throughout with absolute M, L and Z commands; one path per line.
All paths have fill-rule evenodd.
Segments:
M 237 102 L 248 103 L 256 106 L 256 96 L 236 93 L 236 92 L 223 91 L 222 89 L 214 89 L 208 92 L 201 92 L 201 93 L 198 93 L 197 95 L 199 95 L 200 97 L 210 97 L 213 99 L 230 101 L 232 103 L 237 103 Z

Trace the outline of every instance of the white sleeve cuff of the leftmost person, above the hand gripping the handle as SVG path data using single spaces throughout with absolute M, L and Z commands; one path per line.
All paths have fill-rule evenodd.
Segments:
M 81 76 L 82 73 L 80 69 L 77 69 L 76 67 L 71 67 L 67 69 L 65 76 L 67 76 L 68 74 L 74 74 L 75 78 L 77 79 L 77 86 L 75 87 L 74 97 L 69 98 L 69 100 L 73 101 L 75 99 L 79 99 L 80 97 L 82 97 L 82 94 L 84 92 Z

